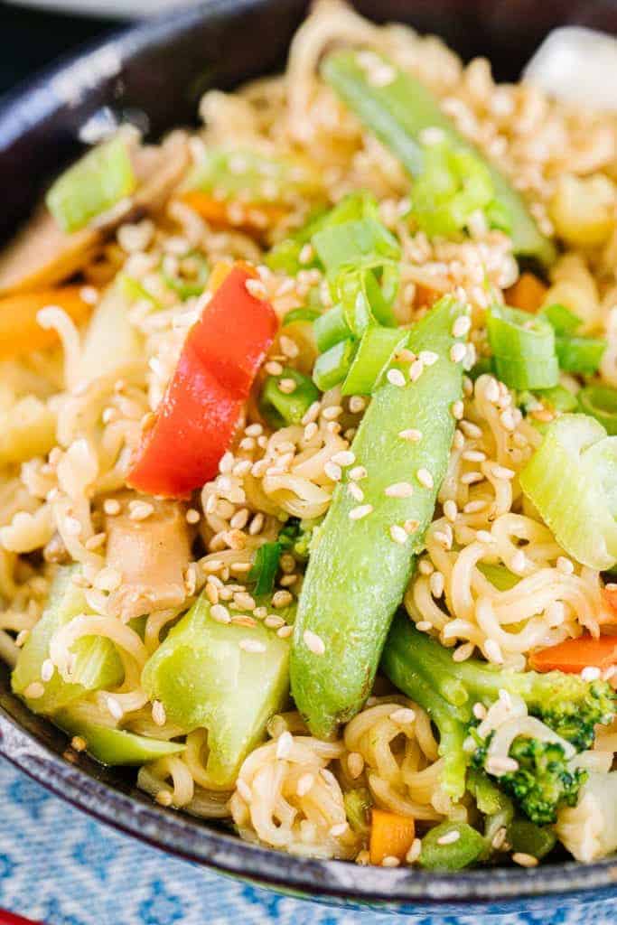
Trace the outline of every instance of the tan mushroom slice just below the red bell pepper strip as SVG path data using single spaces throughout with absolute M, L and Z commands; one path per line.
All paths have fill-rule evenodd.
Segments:
M 117 500 L 120 512 L 105 516 L 105 564 L 121 575 L 109 596 L 108 613 L 126 622 L 179 607 L 186 598 L 184 574 L 191 561 L 184 508 L 176 501 L 145 496 L 125 494 Z

